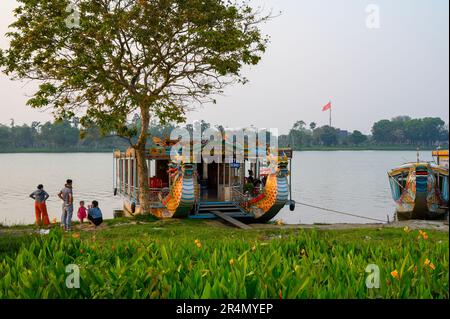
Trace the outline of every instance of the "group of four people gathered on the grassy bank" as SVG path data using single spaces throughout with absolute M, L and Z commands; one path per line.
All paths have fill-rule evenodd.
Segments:
M 48 227 L 50 220 L 47 211 L 47 199 L 50 195 L 44 190 L 44 186 L 39 184 L 37 189 L 30 194 L 34 199 L 34 208 L 36 214 L 36 225 Z M 74 197 L 73 197 L 73 182 L 71 179 L 66 181 L 66 184 L 58 193 L 59 199 L 62 201 L 61 227 L 66 231 L 72 229 L 72 218 L 74 212 Z M 79 202 L 77 217 L 80 224 L 83 224 L 87 219 L 94 227 L 100 226 L 103 222 L 103 215 L 98 201 L 92 201 L 91 205 L 85 207 L 85 202 Z

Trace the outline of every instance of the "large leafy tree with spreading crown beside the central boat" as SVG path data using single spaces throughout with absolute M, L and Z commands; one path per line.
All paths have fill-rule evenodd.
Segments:
M 261 15 L 238 0 L 18 0 L 0 67 L 40 82 L 28 101 L 57 118 L 137 139 L 140 203 L 149 212 L 145 161 L 151 118 L 182 122 L 193 103 L 213 101 L 267 45 Z M 79 18 L 79 19 L 78 19 Z M 127 120 L 139 113 L 140 130 Z

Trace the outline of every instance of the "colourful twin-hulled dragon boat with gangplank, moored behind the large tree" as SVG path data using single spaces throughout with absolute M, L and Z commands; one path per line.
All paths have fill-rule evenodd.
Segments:
M 262 163 L 258 150 L 244 150 L 242 162 L 190 163 L 171 159 L 173 141 L 158 143 L 146 155 L 151 214 L 161 218 L 214 219 L 217 212 L 245 223 L 265 223 L 291 198 L 292 150 L 275 150 Z M 225 155 L 222 154 L 223 159 Z M 114 151 L 114 194 L 123 198 L 126 216 L 141 213 L 137 159 L 133 149 Z M 253 174 L 253 175 L 252 175 Z M 249 183 L 250 178 L 256 181 Z M 259 181 L 259 183 L 258 183 Z

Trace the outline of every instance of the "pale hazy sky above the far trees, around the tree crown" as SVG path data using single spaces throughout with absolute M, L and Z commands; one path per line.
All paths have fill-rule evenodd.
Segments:
M 253 0 L 282 11 L 264 27 L 271 43 L 262 62 L 189 119 L 225 126 L 274 127 L 296 120 L 370 131 L 397 115 L 439 116 L 449 111 L 449 2 L 447 0 Z M 369 29 L 368 4 L 380 9 L 380 28 Z M 13 21 L 15 0 L 0 0 L 0 47 Z M 33 84 L 0 75 L 0 123 L 51 119 L 25 105 Z

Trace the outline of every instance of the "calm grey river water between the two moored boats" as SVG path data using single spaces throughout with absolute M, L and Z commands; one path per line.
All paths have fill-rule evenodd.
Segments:
M 404 162 L 415 161 L 415 151 L 295 152 L 292 164 L 293 199 L 387 221 L 394 218 L 387 171 Z M 431 161 L 431 152 L 421 160 Z M 334 214 L 296 205 L 285 207 L 277 219 L 286 223 L 368 223 L 370 220 Z

